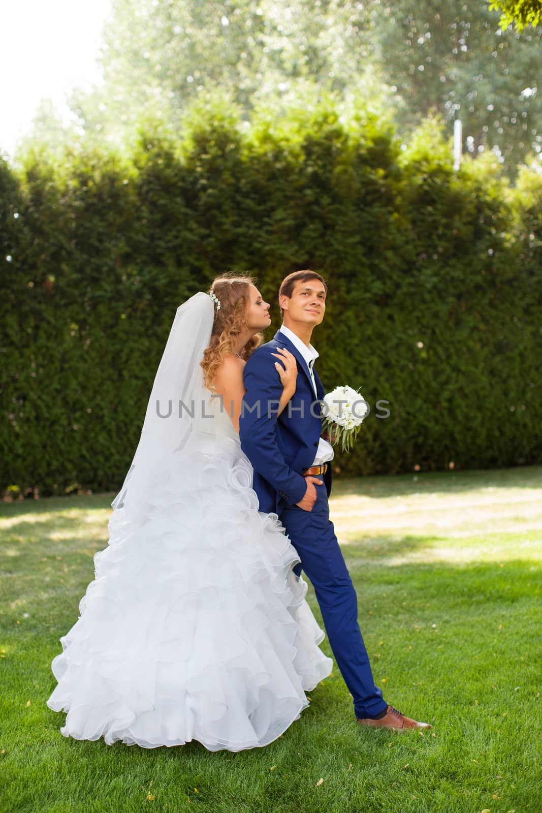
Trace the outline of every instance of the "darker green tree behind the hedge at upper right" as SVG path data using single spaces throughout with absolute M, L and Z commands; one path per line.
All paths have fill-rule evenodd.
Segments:
M 378 30 L 382 75 L 405 101 L 403 133 L 431 110 L 461 119 L 467 150 L 494 150 L 511 176 L 540 152 L 542 28 L 520 37 L 482 5 L 397 0 Z

